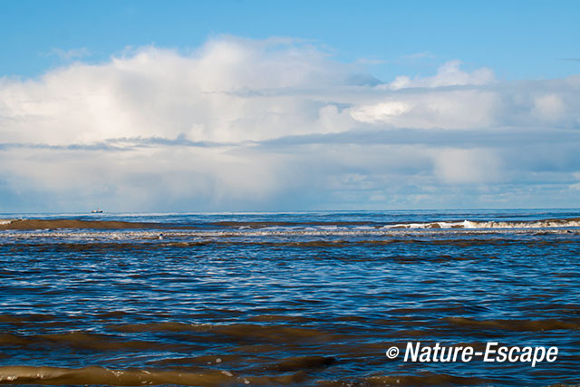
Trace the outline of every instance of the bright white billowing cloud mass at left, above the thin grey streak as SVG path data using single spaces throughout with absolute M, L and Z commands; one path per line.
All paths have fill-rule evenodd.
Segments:
M 14 121 L 3 138 L 67 144 L 183 133 L 240 141 L 324 132 L 324 123 L 312 124 L 328 112 L 326 104 L 296 98 L 296 90 L 352 84 L 355 70 L 309 48 L 233 38 L 191 56 L 147 47 L 103 65 L 76 63 L 36 82 L 5 80 L 0 114 Z

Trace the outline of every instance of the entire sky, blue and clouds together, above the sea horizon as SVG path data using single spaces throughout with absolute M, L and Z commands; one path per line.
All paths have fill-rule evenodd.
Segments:
M 578 2 L 0 2 L 0 212 L 578 208 Z

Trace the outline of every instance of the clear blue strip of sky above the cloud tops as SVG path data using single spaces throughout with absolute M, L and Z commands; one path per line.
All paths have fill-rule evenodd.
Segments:
M 127 46 L 193 49 L 208 37 L 289 36 L 365 61 L 383 81 L 460 58 L 502 79 L 554 78 L 580 66 L 575 1 L 14 1 L 0 5 L 0 74 L 35 76 Z M 575 60 L 570 60 L 575 59 Z M 369 64 L 369 63 L 375 64 Z

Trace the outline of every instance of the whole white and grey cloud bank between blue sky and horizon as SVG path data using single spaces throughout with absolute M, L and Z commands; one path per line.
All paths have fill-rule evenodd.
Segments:
M 538 177 L 564 205 L 578 103 L 580 77 L 380 82 L 292 39 L 141 47 L 0 79 L 0 210 L 517 206 Z

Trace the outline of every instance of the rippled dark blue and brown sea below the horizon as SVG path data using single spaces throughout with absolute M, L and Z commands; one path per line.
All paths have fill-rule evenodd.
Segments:
M 0 383 L 575 384 L 579 256 L 580 210 L 0 214 Z M 404 361 L 489 342 L 557 359 Z

